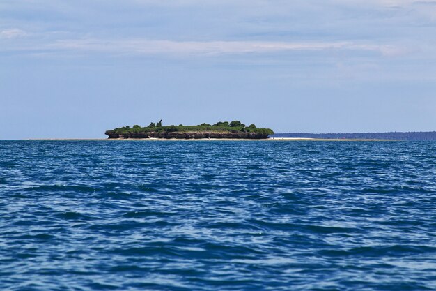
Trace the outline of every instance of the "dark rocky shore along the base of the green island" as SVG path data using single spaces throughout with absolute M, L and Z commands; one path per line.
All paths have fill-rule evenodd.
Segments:
M 267 139 L 268 135 L 263 133 L 232 133 L 232 132 L 148 132 L 148 133 L 116 133 L 114 130 L 107 130 L 105 135 L 111 139 L 127 139 L 127 138 L 162 138 L 162 139 L 203 139 L 203 138 L 225 138 L 225 139 L 247 139 L 247 140 L 262 140 Z

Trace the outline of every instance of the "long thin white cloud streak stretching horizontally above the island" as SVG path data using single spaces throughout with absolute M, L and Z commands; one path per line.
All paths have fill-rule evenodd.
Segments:
M 366 50 L 384 55 L 401 50 L 389 45 L 352 42 L 266 42 L 266 41 L 171 41 L 171 40 L 58 40 L 49 45 L 56 50 L 107 52 L 118 54 L 250 54 L 283 51 Z

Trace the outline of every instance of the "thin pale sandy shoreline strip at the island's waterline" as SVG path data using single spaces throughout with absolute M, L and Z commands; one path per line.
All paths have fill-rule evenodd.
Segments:
M 328 138 L 305 138 L 305 137 L 270 137 L 262 140 L 249 140 L 249 139 L 235 139 L 235 138 L 198 138 L 198 139 L 178 139 L 178 138 L 33 138 L 26 140 L 47 140 L 47 141 L 148 141 L 148 142 L 161 142 L 161 141 L 235 141 L 235 142 L 398 142 L 401 140 L 370 140 L 370 139 L 328 139 Z

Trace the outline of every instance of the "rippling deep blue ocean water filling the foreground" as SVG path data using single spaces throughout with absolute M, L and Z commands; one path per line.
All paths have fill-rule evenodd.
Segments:
M 436 142 L 0 141 L 0 290 L 436 290 Z

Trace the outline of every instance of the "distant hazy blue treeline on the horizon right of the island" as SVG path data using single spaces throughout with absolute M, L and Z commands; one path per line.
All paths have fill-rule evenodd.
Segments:
M 270 137 L 306 137 L 365 140 L 436 140 L 436 131 L 409 133 L 276 133 Z

